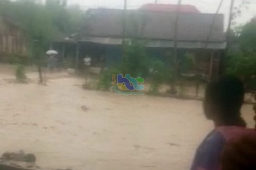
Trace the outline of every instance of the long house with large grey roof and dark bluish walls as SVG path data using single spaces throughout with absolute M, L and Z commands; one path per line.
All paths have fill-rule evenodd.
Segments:
M 78 43 L 77 61 L 90 55 L 92 65 L 102 56 L 106 66 L 119 64 L 123 38 L 136 38 L 146 40 L 150 56 L 167 63 L 166 53 L 172 51 L 175 44 L 176 15 L 176 12 L 141 9 L 125 12 L 90 9 L 84 27 L 72 37 Z M 218 74 L 222 52 L 226 48 L 223 14 L 204 14 L 196 10 L 180 12 L 176 38 L 178 57 L 184 57 L 187 52 L 194 53 L 196 61 L 202 65 L 202 74 Z

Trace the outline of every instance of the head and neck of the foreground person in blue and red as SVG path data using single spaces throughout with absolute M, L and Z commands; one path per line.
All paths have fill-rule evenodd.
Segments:
M 218 125 L 242 125 L 240 109 L 244 102 L 244 84 L 234 76 L 212 80 L 204 97 L 204 114 Z

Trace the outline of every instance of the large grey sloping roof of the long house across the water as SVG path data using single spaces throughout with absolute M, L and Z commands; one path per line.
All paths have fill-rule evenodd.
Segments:
M 122 37 L 124 10 L 91 9 L 89 19 L 80 31 L 80 38 L 86 36 Z M 143 39 L 174 40 L 176 13 L 127 10 L 126 37 Z M 214 14 L 180 13 L 178 20 L 178 41 L 206 41 Z M 217 14 L 210 42 L 223 42 L 224 15 Z

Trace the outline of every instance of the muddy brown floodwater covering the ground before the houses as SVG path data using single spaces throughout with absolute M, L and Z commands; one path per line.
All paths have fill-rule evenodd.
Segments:
M 83 90 L 74 77 L 47 86 L 11 77 L 0 74 L 0 154 L 23 149 L 42 168 L 188 170 L 212 129 L 199 101 Z M 243 114 L 252 127 L 252 106 Z

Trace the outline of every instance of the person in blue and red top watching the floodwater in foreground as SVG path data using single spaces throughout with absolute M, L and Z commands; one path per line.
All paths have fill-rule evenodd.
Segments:
M 204 114 L 214 122 L 202 141 L 190 170 L 222 170 L 221 153 L 226 143 L 242 135 L 255 136 L 255 129 L 246 129 L 240 109 L 244 102 L 244 84 L 238 78 L 225 76 L 206 87 Z

